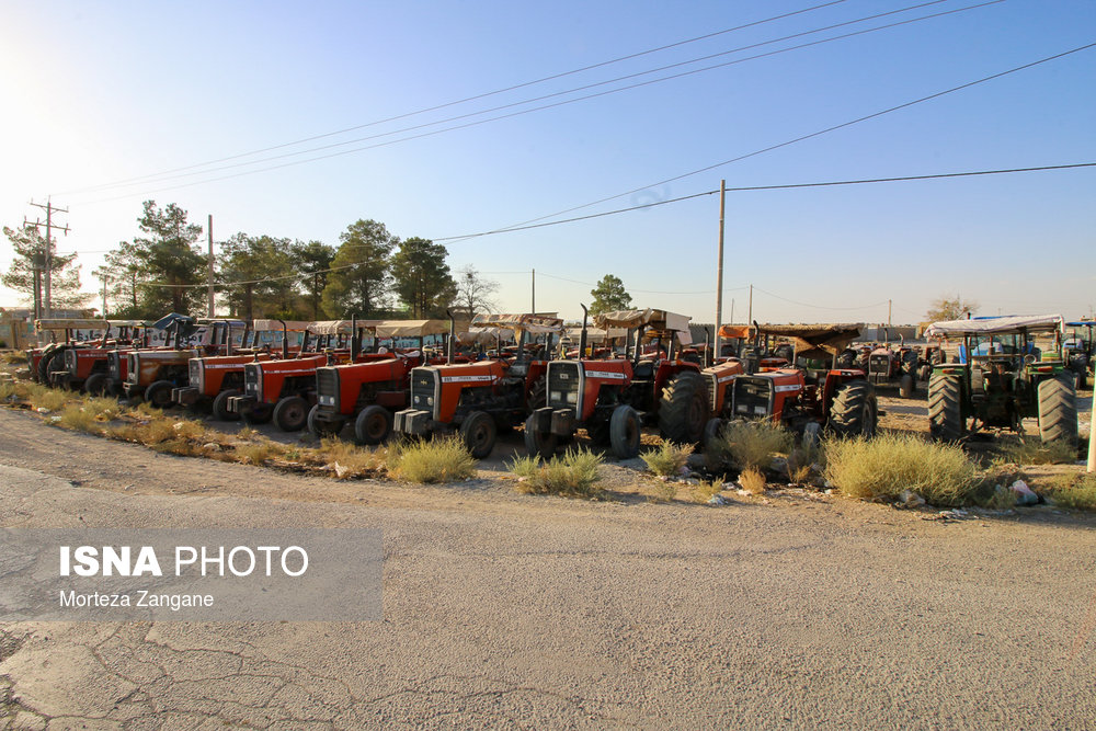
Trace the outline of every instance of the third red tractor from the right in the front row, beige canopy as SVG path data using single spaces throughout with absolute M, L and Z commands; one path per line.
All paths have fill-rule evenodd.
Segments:
M 411 370 L 411 406 L 396 412 L 395 430 L 423 436 L 456 429 L 472 456 L 482 459 L 494 448 L 500 429 L 517 426 L 544 403 L 548 353 L 563 321 L 543 315 L 489 315 L 477 316 L 472 324 L 512 330 L 517 340 L 514 355 L 453 363 L 450 338 L 449 363 Z

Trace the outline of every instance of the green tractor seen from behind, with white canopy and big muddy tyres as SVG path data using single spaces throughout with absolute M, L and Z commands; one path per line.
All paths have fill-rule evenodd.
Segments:
M 1023 420 L 1039 421 L 1043 443 L 1077 443 L 1074 375 L 1061 358 L 1059 315 L 934 322 L 929 338 L 961 340 L 956 363 L 933 367 L 928 423 L 933 438 L 956 442 L 983 429 L 1023 434 Z M 1036 336 L 1050 335 L 1054 353 L 1041 354 Z

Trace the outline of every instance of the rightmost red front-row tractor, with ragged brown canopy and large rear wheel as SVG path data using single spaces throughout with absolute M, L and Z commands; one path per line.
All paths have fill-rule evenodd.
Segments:
M 761 325 L 757 332 L 791 339 L 796 366 L 737 374 L 730 400 L 724 397 L 705 427 L 706 439 L 732 419 L 769 419 L 811 444 L 822 430 L 837 436 L 875 435 L 875 387 L 863 370 L 836 367 L 837 355 L 859 335 L 859 325 Z

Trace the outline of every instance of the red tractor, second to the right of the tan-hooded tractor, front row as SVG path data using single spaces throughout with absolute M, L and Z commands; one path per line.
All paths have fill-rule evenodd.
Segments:
M 316 370 L 322 366 L 357 362 L 366 322 L 313 322 L 296 357 L 253 359 L 243 366 L 243 393 L 228 397 L 228 410 L 248 424 L 274 422 L 283 432 L 299 432 L 308 424 L 316 403 Z M 309 345 L 309 336 L 315 336 Z

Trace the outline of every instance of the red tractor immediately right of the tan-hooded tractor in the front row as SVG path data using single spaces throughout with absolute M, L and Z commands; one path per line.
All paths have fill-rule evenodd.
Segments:
M 209 404 L 217 421 L 239 419 L 239 414 L 228 410 L 228 399 L 243 392 L 244 366 L 249 363 L 270 361 L 278 355 L 282 357 L 296 355 L 300 349 L 299 335 L 307 327 L 307 322 L 255 320 L 254 330 L 249 333 L 249 330 L 244 329 L 239 350 L 233 349 L 231 339 L 226 339 L 222 342 L 225 355 L 191 358 L 186 366 L 187 385 L 172 389 L 171 400 L 184 407 Z M 274 335 L 281 338 L 278 351 L 271 346 Z

